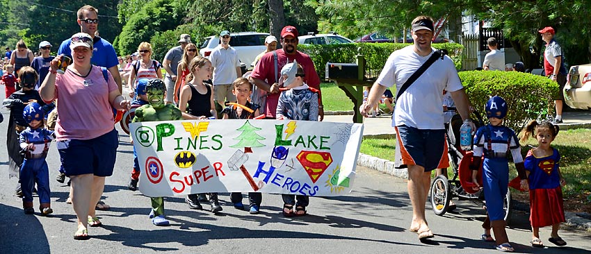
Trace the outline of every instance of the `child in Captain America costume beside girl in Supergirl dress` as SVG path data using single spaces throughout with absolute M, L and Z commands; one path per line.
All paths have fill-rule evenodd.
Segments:
M 476 130 L 473 161 L 470 166 L 472 181 L 478 186 L 476 176 L 480 168 L 480 158 L 484 155 L 482 187 L 487 206 L 487 219 L 483 223 L 485 234 L 482 238 L 485 241 L 492 241 L 490 239 L 492 228 L 496 238 L 496 249 L 503 252 L 514 251 L 505 231 L 505 210 L 503 210 L 503 199 L 509 185 L 508 151 L 512 154 L 515 168 L 521 179 L 521 187 L 523 189 L 528 187 L 521 146 L 515 131 L 503 126 L 503 117 L 507 115 L 507 108 L 507 103 L 499 96 L 493 96 L 487 101 L 485 112 L 490 123 Z

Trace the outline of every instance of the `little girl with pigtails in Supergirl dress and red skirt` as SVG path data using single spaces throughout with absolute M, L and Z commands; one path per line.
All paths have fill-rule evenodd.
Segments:
M 525 128 L 521 141 L 531 135 L 537 139 L 537 147 L 528 151 L 525 167 L 529 179 L 530 222 L 533 232 L 531 246 L 544 247 L 540 240 L 540 228 L 552 226 L 549 242 L 558 246 L 565 246 L 565 242 L 558 236 L 560 223 L 565 222 L 565 210 L 562 204 L 562 189 L 565 178 L 560 173 L 560 153 L 550 144 L 558 134 L 558 126 L 548 121 L 531 121 Z M 535 135 L 535 136 L 534 136 Z

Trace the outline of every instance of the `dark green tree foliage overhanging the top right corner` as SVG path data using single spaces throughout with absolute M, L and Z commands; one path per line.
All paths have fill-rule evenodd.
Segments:
M 556 30 L 556 40 L 565 51 L 569 65 L 588 63 L 590 60 L 591 21 L 581 18 L 588 16 L 591 2 L 564 1 L 503 1 L 481 2 L 469 0 L 469 8 L 480 19 L 493 22 L 503 28 L 505 36 L 526 67 L 540 67 L 545 42 L 538 30 L 552 26 Z

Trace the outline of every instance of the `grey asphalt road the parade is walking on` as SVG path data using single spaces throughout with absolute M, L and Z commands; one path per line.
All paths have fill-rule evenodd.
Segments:
M 6 109 L 0 112 L 8 117 Z M 0 124 L 6 130 L 7 121 Z M 2 131 L 3 133 L 3 131 Z M 0 135 L 6 144 L 6 135 Z M 59 156 L 55 144 L 49 151 L 51 202 L 54 214 L 41 217 L 35 196 L 35 215 L 26 215 L 14 194 L 17 179 L 8 179 L 6 148 L 0 149 L 0 253 L 498 253 L 493 244 L 480 241 L 485 214 L 479 204 L 456 201 L 458 209 L 437 217 L 427 205 L 435 233 L 421 243 L 407 230 L 412 207 L 405 180 L 357 167 L 353 192 L 346 196 L 311 198 L 309 215 L 285 218 L 280 195 L 264 194 L 261 214 L 236 210 L 229 196 L 220 196 L 219 215 L 188 209 L 183 197 L 165 198 L 168 227 L 153 226 L 147 214 L 149 198 L 125 187 L 133 162 L 129 138 L 120 132 L 118 160 L 106 179 L 104 201 L 111 210 L 97 212 L 104 226 L 89 228 L 88 241 L 73 239 L 76 217 L 65 200 L 68 187 L 56 182 Z M 246 199 L 245 199 L 246 201 Z M 209 208 L 209 205 L 204 205 Z M 568 246 L 547 241 L 548 248 L 531 248 L 528 218 L 515 214 L 508 229 L 519 253 L 591 253 L 591 235 L 560 231 Z

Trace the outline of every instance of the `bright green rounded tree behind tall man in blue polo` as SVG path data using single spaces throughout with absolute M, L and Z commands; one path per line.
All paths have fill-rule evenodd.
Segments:
M 133 53 L 141 42 L 149 42 L 156 32 L 175 29 L 181 24 L 181 15 L 177 13 L 172 0 L 154 0 L 147 3 L 140 12 L 131 15 L 129 22 L 123 26 L 118 37 L 120 53 Z

